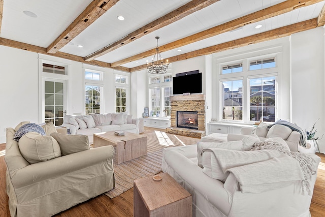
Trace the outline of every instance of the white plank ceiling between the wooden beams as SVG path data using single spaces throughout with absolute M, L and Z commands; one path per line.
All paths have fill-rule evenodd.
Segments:
M 91 0 L 4 0 L 0 37 L 46 48 L 91 2 Z M 190 1 L 120 0 L 81 34 L 75 37 L 71 41 L 72 43 L 67 44 L 60 51 L 82 57 L 87 56 L 188 2 Z M 158 45 L 165 45 L 281 2 L 284 1 L 221 0 L 179 21 L 160 28 L 153 33 L 149 33 L 132 43 L 125 44 L 118 49 L 96 58 L 96 60 L 114 63 L 115 61 L 155 48 L 156 36 L 160 37 Z M 182 49 L 181 52 L 178 52 L 177 49 L 162 52 L 161 56 L 166 59 L 171 56 L 309 20 L 319 15 L 323 5 L 324 2 L 320 2 L 308 7 L 302 7 L 258 23 L 245 25 L 242 29 L 233 32 L 223 33 L 177 48 Z M 34 12 L 38 17 L 32 18 L 26 16 L 23 13 L 25 10 Z M 117 16 L 119 15 L 124 16 L 125 20 L 118 20 Z M 257 24 L 262 24 L 262 28 L 256 29 L 255 26 Z M 77 45 L 82 45 L 83 48 L 79 48 Z M 137 67 L 145 64 L 146 60 L 151 60 L 151 58 L 147 57 L 122 66 L 127 68 Z

